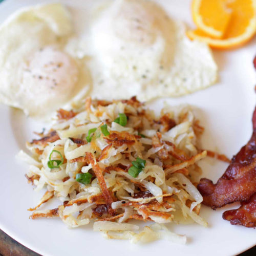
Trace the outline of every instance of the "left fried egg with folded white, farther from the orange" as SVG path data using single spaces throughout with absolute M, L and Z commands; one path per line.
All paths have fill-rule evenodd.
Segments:
M 88 86 L 86 67 L 65 52 L 73 34 L 60 4 L 29 7 L 0 27 L 0 102 L 44 117 Z

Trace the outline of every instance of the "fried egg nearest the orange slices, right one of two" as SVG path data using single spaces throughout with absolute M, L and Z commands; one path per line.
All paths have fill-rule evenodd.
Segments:
M 208 46 L 190 41 L 184 24 L 172 20 L 154 2 L 104 4 L 95 12 L 91 35 L 93 97 L 181 96 L 217 79 Z

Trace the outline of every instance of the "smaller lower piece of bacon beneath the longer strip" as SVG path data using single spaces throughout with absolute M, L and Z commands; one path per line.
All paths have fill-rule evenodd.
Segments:
M 256 227 L 256 193 L 249 201 L 242 202 L 240 208 L 225 211 L 222 218 L 230 221 L 231 225 Z

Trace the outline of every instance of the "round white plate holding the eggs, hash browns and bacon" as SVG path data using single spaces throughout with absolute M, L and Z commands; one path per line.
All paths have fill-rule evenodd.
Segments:
M 49 1 L 37 1 L 49 2 Z M 60 1 L 69 6 L 79 7 L 79 18 L 86 16 L 84 3 L 93 1 Z M 95 2 L 95 1 L 94 1 Z M 158 1 L 174 17 L 190 20 L 190 1 Z M 6 0 L 0 5 L 0 22 L 16 9 L 34 4 L 34 0 Z M 225 153 L 228 157 L 236 154 L 252 132 L 251 115 L 255 105 L 255 71 L 252 59 L 256 53 L 256 40 L 235 51 L 214 52 L 220 69 L 219 83 L 209 89 L 186 97 L 168 99 L 171 104 L 190 103 L 198 108 L 199 118 L 205 127 L 202 143 L 205 148 Z M 1 79 L 1 78 L 0 78 Z M 158 101 L 158 106 L 163 100 Z M 15 160 L 15 154 L 31 138 L 32 131 L 41 131 L 41 124 L 24 117 L 20 111 L 0 106 L 2 140 L 0 144 L 0 228 L 12 238 L 42 255 L 234 255 L 256 244 L 255 230 L 242 226 L 231 226 L 222 219 L 222 212 L 236 208 L 238 204 L 213 211 L 202 207 L 201 216 L 209 223 L 208 228 L 197 224 L 170 228 L 186 234 L 188 243 L 177 245 L 167 241 L 137 245 L 128 241 L 105 240 L 100 233 L 92 231 L 92 225 L 68 229 L 59 219 L 30 220 L 28 209 L 37 204 L 41 194 L 27 184 L 26 165 Z M 212 164 L 213 163 L 213 164 Z M 227 164 L 202 161 L 204 176 L 217 181 Z M 44 208 L 54 207 L 54 202 Z

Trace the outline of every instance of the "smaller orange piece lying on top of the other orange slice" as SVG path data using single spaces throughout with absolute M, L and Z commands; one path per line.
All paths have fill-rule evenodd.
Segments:
M 192 17 L 199 29 L 211 37 L 221 38 L 231 18 L 231 10 L 222 0 L 193 0 Z

